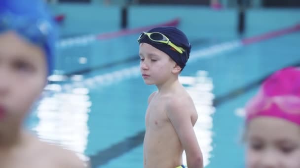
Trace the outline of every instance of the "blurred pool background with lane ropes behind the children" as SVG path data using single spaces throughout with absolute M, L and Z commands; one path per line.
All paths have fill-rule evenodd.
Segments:
M 199 113 L 205 168 L 244 167 L 245 102 L 272 72 L 300 65 L 299 0 L 47 3 L 60 29 L 55 74 L 26 125 L 92 168 L 143 167 L 145 112 L 156 87 L 140 75 L 141 31 L 175 26 L 190 40 L 180 82 Z

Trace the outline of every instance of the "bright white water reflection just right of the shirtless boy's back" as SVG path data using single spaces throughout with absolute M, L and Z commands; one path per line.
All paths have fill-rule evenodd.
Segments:
M 198 120 L 194 126 L 196 137 L 203 153 L 204 166 L 210 163 L 213 150 L 213 118 L 215 112 L 213 107 L 214 95 L 212 79 L 206 71 L 198 71 L 195 77 L 181 76 L 180 82 L 185 85 L 188 93 L 194 101 L 198 112 Z M 183 154 L 184 165 L 187 166 L 186 154 Z

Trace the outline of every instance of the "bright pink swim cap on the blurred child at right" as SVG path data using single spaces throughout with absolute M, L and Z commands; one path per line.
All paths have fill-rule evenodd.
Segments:
M 247 123 L 256 117 L 269 116 L 300 126 L 300 69 L 287 67 L 272 74 L 245 109 Z

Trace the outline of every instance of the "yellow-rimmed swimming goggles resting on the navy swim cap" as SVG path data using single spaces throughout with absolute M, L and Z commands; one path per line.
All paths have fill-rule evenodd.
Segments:
M 143 39 L 145 37 L 145 35 L 147 35 L 149 37 L 149 39 L 154 42 L 164 43 L 164 44 L 167 44 L 167 45 L 173 47 L 180 54 L 183 54 L 183 52 L 185 51 L 185 49 L 183 49 L 182 47 L 176 46 L 174 43 L 172 43 L 169 40 L 168 37 L 166 37 L 165 35 L 163 35 L 160 32 L 150 32 L 150 33 L 142 32 L 137 41 L 140 42 L 141 39 Z

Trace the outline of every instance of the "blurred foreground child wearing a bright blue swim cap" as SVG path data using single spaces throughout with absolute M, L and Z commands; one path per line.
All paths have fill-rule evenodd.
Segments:
M 42 0 L 0 0 L 0 168 L 84 168 L 23 122 L 51 74 L 55 28 Z

